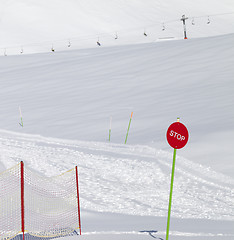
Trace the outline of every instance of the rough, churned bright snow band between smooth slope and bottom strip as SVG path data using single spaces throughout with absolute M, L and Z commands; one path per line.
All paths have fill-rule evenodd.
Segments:
M 40 174 L 54 176 L 78 165 L 83 210 L 167 215 L 172 153 L 144 145 L 0 132 L 5 168 L 23 160 Z M 180 156 L 176 161 L 173 216 L 233 220 L 233 179 Z

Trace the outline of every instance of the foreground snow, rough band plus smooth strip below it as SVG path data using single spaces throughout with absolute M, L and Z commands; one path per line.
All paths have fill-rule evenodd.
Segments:
M 78 164 L 83 236 L 163 239 L 172 153 L 143 145 L 45 138 L 0 131 L 1 162 L 24 160 L 46 176 Z M 170 236 L 231 240 L 234 179 L 177 158 Z M 69 237 L 69 240 L 77 239 Z

